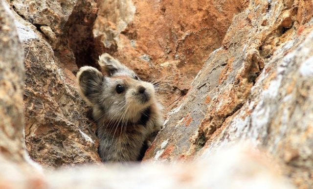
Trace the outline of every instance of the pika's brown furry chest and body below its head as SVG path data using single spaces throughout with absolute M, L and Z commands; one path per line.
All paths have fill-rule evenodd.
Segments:
M 150 107 L 135 122 L 107 123 L 107 119 L 103 118 L 99 120 L 97 129 L 99 155 L 104 162 L 136 161 L 140 158 L 144 142 L 154 131 Z

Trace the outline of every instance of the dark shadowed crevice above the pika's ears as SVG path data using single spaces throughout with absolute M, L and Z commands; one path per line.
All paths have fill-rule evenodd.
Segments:
M 67 33 L 64 38 L 68 41 L 78 68 L 88 65 L 100 70 L 97 63 L 99 55 L 117 51 L 116 44 L 111 48 L 104 48 L 101 38 L 93 38 L 92 28 L 97 18 L 97 11 L 94 3 L 79 0 L 68 18 Z

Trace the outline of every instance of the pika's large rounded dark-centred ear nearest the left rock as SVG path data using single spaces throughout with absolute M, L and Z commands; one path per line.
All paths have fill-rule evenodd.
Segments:
M 105 77 L 97 69 L 91 66 L 83 66 L 76 75 L 78 91 L 84 100 L 91 106 L 98 104 Z

